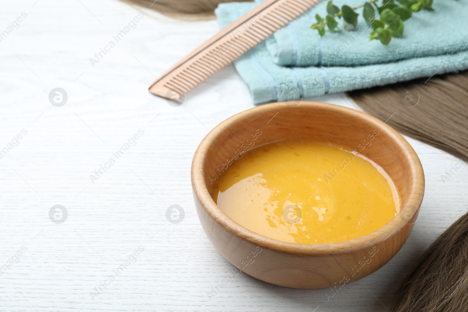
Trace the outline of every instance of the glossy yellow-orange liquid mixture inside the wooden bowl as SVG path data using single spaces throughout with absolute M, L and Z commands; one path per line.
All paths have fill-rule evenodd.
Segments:
M 400 210 L 381 167 L 318 142 L 281 141 L 241 154 L 214 181 L 212 198 L 249 230 L 300 244 L 362 237 Z

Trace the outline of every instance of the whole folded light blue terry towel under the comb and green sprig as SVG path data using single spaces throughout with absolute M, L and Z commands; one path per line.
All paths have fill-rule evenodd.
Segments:
M 338 3 L 337 0 L 336 4 Z M 345 3 L 362 4 L 363 1 L 346 0 Z M 321 4 L 326 5 L 326 1 Z M 221 27 L 226 27 L 255 5 L 248 2 L 225 3 L 220 4 L 215 13 Z M 329 51 L 327 47 L 330 49 L 337 42 L 341 42 L 343 38 L 336 38 L 337 36 L 352 36 L 354 32 L 327 33 L 320 40 L 316 30 L 310 29 L 310 12 L 318 9 L 313 7 L 311 11 L 289 24 L 294 24 L 292 28 L 286 26 L 280 29 L 267 43 L 259 44 L 236 60 L 234 65 L 249 86 L 254 103 L 286 101 L 292 98 L 297 100 L 301 96 L 312 97 L 350 91 L 468 69 L 467 0 L 435 0 L 434 7 L 433 12 L 415 13 L 405 22 L 404 38 L 393 38 L 389 46 L 384 46 L 379 41 L 369 41 L 368 35 L 363 32 L 330 66 L 324 63 L 325 53 Z M 428 14 L 432 17 L 427 18 Z M 420 28 L 410 36 L 409 22 L 418 15 L 424 15 L 426 18 L 413 22 L 419 23 L 417 27 Z M 433 27 L 432 24 L 437 27 L 426 32 L 422 24 L 429 28 Z M 442 30 L 439 32 L 436 31 L 438 28 L 452 30 L 449 33 Z M 291 44 L 287 44 L 287 40 Z M 392 48 L 392 44 L 397 47 Z M 424 51 L 421 50 L 422 46 Z M 389 52 L 387 49 L 393 50 Z M 285 52 L 286 50 L 288 51 Z M 452 54 L 447 56 L 447 51 Z M 366 54 L 368 60 L 362 56 Z M 288 63 L 289 59 L 296 65 L 322 66 L 287 67 L 277 64 Z M 390 60 L 393 62 L 388 62 Z

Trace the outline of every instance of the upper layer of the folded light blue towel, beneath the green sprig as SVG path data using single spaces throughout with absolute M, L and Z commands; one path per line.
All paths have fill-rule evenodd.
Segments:
M 264 0 L 256 3 L 241 3 L 240 6 L 220 4 L 216 11 L 221 25 L 236 20 Z M 365 0 L 334 0 L 341 7 L 344 4 L 357 7 Z M 450 53 L 468 42 L 468 1 L 436 0 L 434 11 L 421 10 L 405 22 L 404 38 L 393 38 L 388 46 L 379 40 L 369 40 L 371 26 L 364 21 L 362 9 L 358 25 L 353 31 L 327 32 L 319 36 L 310 26 L 316 22 L 315 14 L 325 17 L 328 0 L 319 2 L 284 28 L 279 29 L 266 40 L 273 62 L 278 65 L 294 66 L 355 66 L 387 63 L 405 58 Z M 242 11 L 241 11 L 242 10 Z M 337 19 L 342 27 L 343 19 Z

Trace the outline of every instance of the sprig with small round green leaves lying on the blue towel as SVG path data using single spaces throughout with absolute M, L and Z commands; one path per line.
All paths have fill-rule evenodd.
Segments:
M 381 1 L 381 3 L 380 3 Z M 358 24 L 358 16 L 356 13 L 358 8 L 364 7 L 362 15 L 368 22 L 373 31 L 370 39 L 378 39 L 382 44 L 389 44 L 392 37 L 401 38 L 403 36 L 403 22 L 409 19 L 413 12 L 431 10 L 433 0 L 370 0 L 358 7 L 350 7 L 344 5 L 337 7 L 330 0 L 327 3 L 327 15 L 322 18 L 320 15 L 315 15 L 317 20 L 311 28 L 317 29 L 320 36 L 325 35 L 325 26 L 328 31 L 336 32 L 339 30 L 336 18 L 343 17 L 343 28 L 345 30 L 353 30 Z M 380 5 L 379 5 L 380 3 Z M 379 19 L 378 19 L 379 18 Z

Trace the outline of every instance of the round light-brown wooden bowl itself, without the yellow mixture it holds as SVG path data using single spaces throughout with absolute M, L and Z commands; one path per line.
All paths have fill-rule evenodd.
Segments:
M 243 111 L 206 135 L 191 169 L 198 218 L 219 253 L 250 276 L 292 288 L 342 287 L 381 268 L 408 239 L 424 195 L 423 167 L 409 143 L 372 116 L 326 103 L 287 104 L 272 103 Z M 375 131 L 378 134 L 370 136 Z M 235 155 L 283 139 L 339 142 L 375 161 L 395 183 L 400 212 L 375 232 L 333 244 L 269 239 L 239 225 L 212 200 L 212 182 Z

